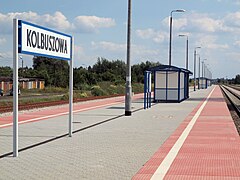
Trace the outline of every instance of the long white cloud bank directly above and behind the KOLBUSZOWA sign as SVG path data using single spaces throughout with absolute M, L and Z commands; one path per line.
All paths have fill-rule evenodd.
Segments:
M 62 12 L 55 12 L 53 15 L 39 15 L 35 12 L 22 13 L 0 13 L 0 33 L 10 34 L 12 32 L 12 21 L 14 18 L 22 19 L 41 26 L 47 26 L 61 31 L 70 32 L 97 32 L 100 28 L 109 28 L 115 25 L 114 19 L 101 18 L 97 16 L 77 16 L 70 22 Z

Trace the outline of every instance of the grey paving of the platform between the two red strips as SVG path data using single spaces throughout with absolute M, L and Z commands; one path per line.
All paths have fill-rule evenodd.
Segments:
M 77 112 L 77 132 L 71 138 L 56 138 L 67 133 L 66 115 L 22 124 L 20 148 L 55 139 L 23 150 L 17 158 L 1 158 L 0 179 L 131 179 L 210 91 L 191 92 L 187 101 L 159 103 L 131 117 L 121 116 L 123 103 Z M 142 99 L 137 100 L 133 110 L 142 106 Z M 12 150 L 12 128 L 0 131 L 3 155 Z

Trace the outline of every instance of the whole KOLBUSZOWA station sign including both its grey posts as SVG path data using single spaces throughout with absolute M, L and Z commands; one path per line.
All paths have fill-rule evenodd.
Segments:
M 18 53 L 70 61 L 69 137 L 73 122 L 73 38 L 70 35 L 13 19 L 13 156 L 18 156 Z

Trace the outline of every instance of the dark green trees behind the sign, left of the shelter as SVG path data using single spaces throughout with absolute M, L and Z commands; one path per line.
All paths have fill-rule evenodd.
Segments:
M 158 65 L 159 62 L 150 61 L 132 65 L 132 82 L 143 83 L 144 71 Z M 96 85 L 103 81 L 124 84 L 126 64 L 121 60 L 98 58 L 93 66 L 74 68 L 73 73 L 75 89 L 83 89 L 85 85 Z M 12 69 L 0 67 L 0 76 L 12 77 Z M 69 82 L 69 64 L 67 61 L 36 56 L 33 58 L 32 68 L 19 68 L 19 77 L 42 78 L 45 80 L 45 86 L 66 88 Z

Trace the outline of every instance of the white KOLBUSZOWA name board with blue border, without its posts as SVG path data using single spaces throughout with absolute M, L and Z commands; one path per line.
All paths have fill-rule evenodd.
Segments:
M 19 53 L 71 60 L 72 36 L 22 20 L 18 26 Z

